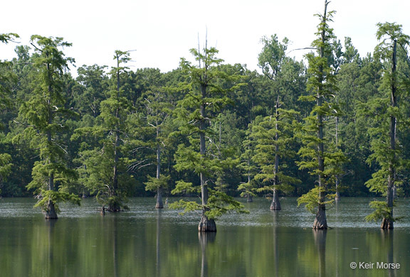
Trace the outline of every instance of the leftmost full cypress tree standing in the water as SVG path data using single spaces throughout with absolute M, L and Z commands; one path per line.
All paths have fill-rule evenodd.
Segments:
M 65 192 L 65 187 L 76 179 L 67 166 L 67 151 L 61 141 L 64 120 L 73 115 L 65 107 L 63 73 L 73 58 L 65 57 L 60 48 L 71 46 L 63 38 L 31 36 L 31 44 L 38 56 L 33 59 L 38 70 L 31 98 L 21 105 L 20 117 L 26 122 L 25 135 L 33 149 L 39 148 L 40 160 L 33 167 L 33 180 L 28 189 L 35 189 L 40 200 L 36 204 L 45 211 L 46 219 L 57 219 L 58 202 L 79 204 L 80 199 Z

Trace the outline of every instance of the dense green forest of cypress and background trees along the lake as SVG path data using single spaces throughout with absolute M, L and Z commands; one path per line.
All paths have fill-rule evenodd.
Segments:
M 379 23 L 374 53 L 359 56 L 326 7 L 303 61 L 288 38 L 261 38 L 259 72 L 205 43 L 167 73 L 130 70 L 130 52 L 115 51 L 116 66 L 83 65 L 74 78 L 71 44 L 32 36 L 0 64 L 1 196 L 34 194 L 54 218 L 58 202 L 80 197 L 120 211 L 127 197 L 156 196 L 162 208 L 163 197 L 201 194 L 174 206 L 206 207 L 211 219 L 243 211 L 238 196 L 271 197 L 270 209 L 300 197 L 312 211 L 384 196 L 371 216 L 392 227 L 393 199 L 410 194 L 409 36 Z

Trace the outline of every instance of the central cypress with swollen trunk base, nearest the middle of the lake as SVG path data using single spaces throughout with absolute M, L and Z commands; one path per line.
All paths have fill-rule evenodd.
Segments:
M 201 203 L 180 200 L 172 207 L 184 207 L 185 211 L 201 210 L 200 232 L 216 231 L 214 219 L 229 210 L 243 211 L 243 207 L 224 192 L 211 189 L 217 172 L 224 169 L 224 160 L 219 160 L 215 136 L 211 132 L 211 120 L 231 100 L 226 97 L 226 90 L 217 85 L 220 78 L 234 78 L 219 70 L 222 62 L 216 58 L 216 48 L 204 47 L 203 51 L 191 49 L 197 66 L 182 58 L 181 67 L 189 75 L 189 83 L 183 86 L 184 99 L 179 101 L 177 113 L 183 125 L 181 131 L 187 135 L 188 145 L 179 145 L 175 165 L 177 170 L 194 170 L 199 174 L 199 188 L 191 183 L 179 182 L 173 193 L 201 193 Z M 233 89 L 233 88 L 231 88 Z

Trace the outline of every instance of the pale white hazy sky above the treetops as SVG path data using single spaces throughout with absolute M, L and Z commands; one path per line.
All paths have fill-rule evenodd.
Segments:
M 30 36 L 61 36 L 73 46 L 65 55 L 75 65 L 114 66 L 115 50 L 132 52 L 132 69 L 172 70 L 189 49 L 208 45 L 219 49 L 226 63 L 257 69 L 260 40 L 278 34 L 291 41 L 289 50 L 310 46 L 315 38 L 324 0 L 14 0 L 1 4 L 0 33 L 18 33 L 21 45 Z M 352 38 L 361 56 L 377 44 L 378 22 L 396 22 L 410 34 L 408 0 L 333 0 L 336 36 Z M 0 59 L 15 56 L 16 44 L 0 46 Z M 305 51 L 292 51 L 300 60 Z

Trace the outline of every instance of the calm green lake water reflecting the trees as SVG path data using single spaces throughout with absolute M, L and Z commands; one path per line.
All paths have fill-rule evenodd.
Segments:
M 61 205 L 57 221 L 34 199 L 1 199 L 0 276 L 410 276 L 410 200 L 398 202 L 405 217 L 393 231 L 364 221 L 371 200 L 342 199 L 327 211 L 332 229 L 313 231 L 314 215 L 295 198 L 282 199 L 283 211 L 241 199 L 250 214 L 226 215 L 216 234 L 199 236 L 198 215 L 157 211 L 153 198 L 105 216 L 85 199 Z

